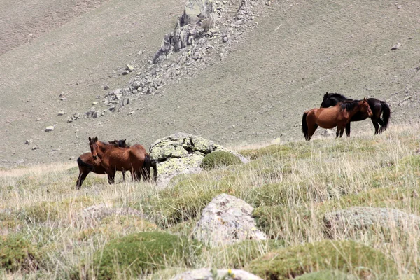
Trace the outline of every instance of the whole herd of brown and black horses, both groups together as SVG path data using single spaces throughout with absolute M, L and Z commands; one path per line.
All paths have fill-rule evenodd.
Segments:
M 353 100 L 338 93 L 326 93 L 321 108 L 305 111 L 302 117 L 302 132 L 307 141 L 314 135 L 318 126 L 323 128 L 337 127 L 336 137 L 342 137 L 344 128 L 347 137 L 350 136 L 350 122 L 370 118 L 374 125 L 374 134 L 386 130 L 391 111 L 386 102 L 368 98 Z M 380 126 L 379 126 L 380 125 Z M 153 181 L 158 177 L 156 162 L 140 144 L 127 145 L 126 139 L 98 141 L 97 137 L 89 137 L 90 153 L 83 153 L 77 159 L 79 176 L 76 188 L 80 190 L 87 174 L 107 174 L 110 184 L 115 182 L 116 172 L 130 170 L 132 179 L 139 181 L 141 176 L 145 181 L 151 181 L 151 167 L 153 167 Z

